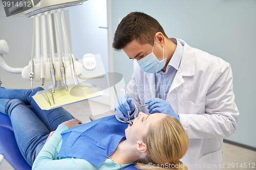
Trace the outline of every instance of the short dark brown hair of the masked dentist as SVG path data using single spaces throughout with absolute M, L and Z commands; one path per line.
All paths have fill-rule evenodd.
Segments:
M 161 32 L 167 35 L 160 23 L 150 15 L 142 12 L 131 12 L 119 23 L 112 47 L 115 50 L 122 50 L 128 43 L 136 39 L 141 44 L 154 44 L 155 34 Z

